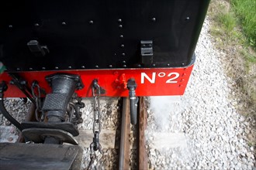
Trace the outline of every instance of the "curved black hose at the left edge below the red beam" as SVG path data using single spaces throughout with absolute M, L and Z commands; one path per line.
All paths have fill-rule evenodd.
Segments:
M 19 131 L 23 130 L 23 127 L 21 124 L 19 124 L 18 121 L 16 121 L 15 118 L 12 117 L 11 114 L 5 109 L 5 104 L 4 104 L 4 92 L 7 90 L 7 85 L 4 81 L 0 84 L 0 113 L 4 115 L 4 117 L 11 122 L 16 128 L 19 129 Z

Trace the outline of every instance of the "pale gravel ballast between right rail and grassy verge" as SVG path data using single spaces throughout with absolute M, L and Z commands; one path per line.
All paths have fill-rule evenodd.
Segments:
M 229 99 L 231 89 L 221 54 L 213 48 L 209 20 L 204 22 L 195 49 L 195 66 L 185 95 L 150 97 L 147 151 L 150 169 L 252 169 L 254 148 L 247 142 L 249 123 Z M 160 122 L 160 124 L 158 123 Z M 154 133 L 183 134 L 178 146 L 153 145 Z M 164 141 L 162 141 L 164 143 Z M 159 144 L 159 142 L 157 143 Z

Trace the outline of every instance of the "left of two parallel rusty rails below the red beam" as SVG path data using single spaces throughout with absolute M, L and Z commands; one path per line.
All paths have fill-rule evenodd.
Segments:
M 129 169 L 130 162 L 130 101 L 129 97 L 123 97 L 121 140 L 119 151 L 119 170 Z

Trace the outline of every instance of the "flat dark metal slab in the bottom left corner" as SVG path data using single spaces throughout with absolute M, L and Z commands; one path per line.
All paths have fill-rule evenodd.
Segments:
M 79 146 L 0 143 L 0 169 L 80 169 Z

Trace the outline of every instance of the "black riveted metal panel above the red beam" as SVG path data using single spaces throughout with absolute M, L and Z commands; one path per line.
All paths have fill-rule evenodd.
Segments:
M 2 1 L 0 61 L 9 71 L 186 66 L 208 5 L 209 0 Z M 153 41 L 150 65 L 140 56 L 140 41 L 147 40 Z

